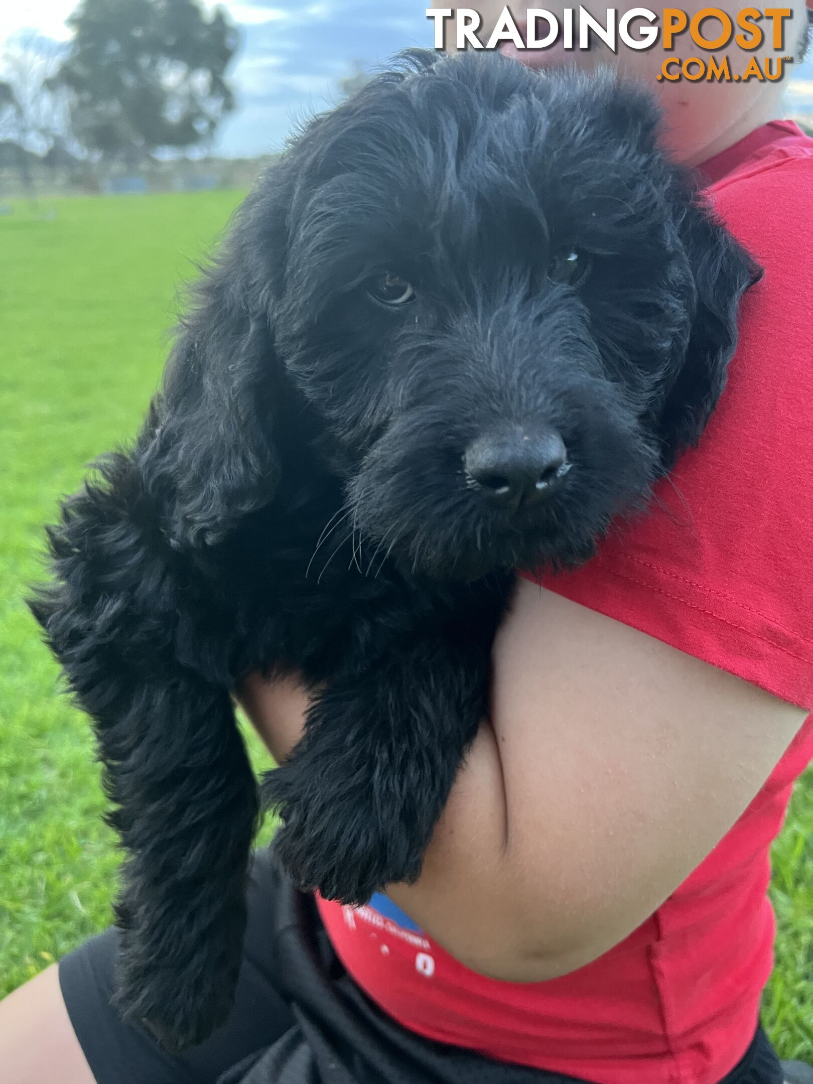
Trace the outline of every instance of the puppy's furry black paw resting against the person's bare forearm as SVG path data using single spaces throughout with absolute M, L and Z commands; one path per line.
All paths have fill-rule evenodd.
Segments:
M 410 838 L 404 810 L 384 808 L 372 783 L 337 787 L 323 777 L 314 785 L 297 758 L 269 773 L 263 799 L 282 818 L 276 854 L 305 891 L 364 904 L 386 885 L 421 873 L 423 848 Z

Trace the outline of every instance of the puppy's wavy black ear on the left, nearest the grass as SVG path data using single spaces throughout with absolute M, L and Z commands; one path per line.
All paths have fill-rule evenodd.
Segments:
M 176 549 L 221 542 L 242 516 L 269 503 L 280 478 L 280 366 L 270 321 L 244 307 L 250 292 L 228 276 L 220 267 L 199 288 L 139 447 L 142 476 Z

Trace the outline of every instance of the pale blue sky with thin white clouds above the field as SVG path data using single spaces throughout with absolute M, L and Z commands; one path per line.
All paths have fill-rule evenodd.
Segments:
M 201 0 L 207 9 L 216 0 Z M 241 28 L 230 77 L 238 108 L 222 125 L 216 151 L 255 156 L 280 146 L 292 125 L 336 100 L 336 82 L 353 61 L 379 64 L 399 49 L 430 46 L 428 0 L 222 0 Z M 0 0 L 3 50 L 21 39 L 65 42 L 77 0 Z M 813 65 L 797 67 L 788 112 L 813 112 Z

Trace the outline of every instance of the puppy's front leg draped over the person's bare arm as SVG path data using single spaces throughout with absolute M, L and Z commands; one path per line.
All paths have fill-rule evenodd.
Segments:
M 263 798 L 276 850 L 300 887 L 365 903 L 414 881 L 466 747 L 487 710 L 491 637 L 422 638 L 339 678 Z

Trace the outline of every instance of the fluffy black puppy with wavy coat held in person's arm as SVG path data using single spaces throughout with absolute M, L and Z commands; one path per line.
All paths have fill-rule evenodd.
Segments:
M 757 269 L 609 78 L 413 53 L 243 205 L 133 449 L 33 604 L 128 857 L 120 1001 L 232 999 L 258 813 L 231 692 L 325 683 L 266 782 L 297 880 L 412 880 L 487 710 L 512 569 L 573 566 L 694 444 Z

